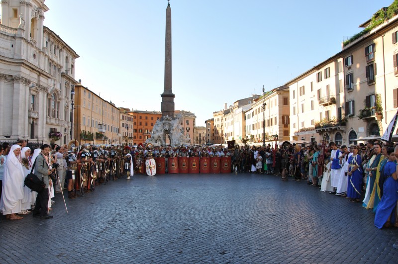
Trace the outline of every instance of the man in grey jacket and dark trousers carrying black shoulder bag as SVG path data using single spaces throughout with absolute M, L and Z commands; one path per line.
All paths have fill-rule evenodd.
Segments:
M 44 181 L 46 184 L 45 188 L 37 193 L 36 205 L 33 209 L 33 217 L 39 216 L 40 219 L 50 219 L 53 218 L 52 215 L 48 214 L 48 185 L 49 176 L 53 176 L 56 169 L 50 169 L 50 146 L 44 144 L 40 147 L 41 153 L 36 158 L 34 174 Z

